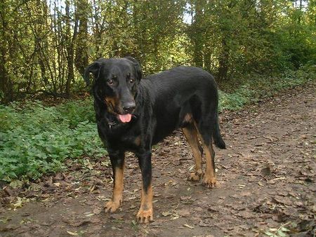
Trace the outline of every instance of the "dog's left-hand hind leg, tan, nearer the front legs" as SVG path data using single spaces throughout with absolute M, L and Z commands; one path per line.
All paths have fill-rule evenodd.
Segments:
M 190 147 L 193 151 L 193 156 L 195 158 L 195 172 L 190 174 L 189 180 L 198 181 L 203 175 L 202 172 L 202 154 L 203 149 L 199 145 L 199 138 L 197 135 L 197 129 L 193 123 L 189 123 L 185 128 L 182 128 L 183 134 L 187 139 L 187 143 L 190 144 Z

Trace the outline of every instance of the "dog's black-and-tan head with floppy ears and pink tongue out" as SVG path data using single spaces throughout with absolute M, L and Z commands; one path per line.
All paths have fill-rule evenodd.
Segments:
M 135 96 L 142 77 L 139 63 L 133 57 L 100 58 L 86 67 L 84 79 L 94 76 L 93 96 L 107 105 L 107 111 L 122 123 L 131 121 L 136 108 Z

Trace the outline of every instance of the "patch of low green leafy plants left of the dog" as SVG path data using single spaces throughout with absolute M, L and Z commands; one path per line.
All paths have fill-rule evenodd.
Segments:
M 36 179 L 63 168 L 65 158 L 103 156 L 91 101 L 44 107 L 41 102 L 0 107 L 0 180 Z

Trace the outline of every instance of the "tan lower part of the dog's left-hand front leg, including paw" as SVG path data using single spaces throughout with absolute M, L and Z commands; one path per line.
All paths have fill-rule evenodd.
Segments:
M 108 201 L 105 205 L 105 212 L 115 212 L 117 208 L 121 205 L 123 200 L 123 177 L 124 177 L 124 168 L 115 169 L 114 177 L 114 189 L 112 200 Z

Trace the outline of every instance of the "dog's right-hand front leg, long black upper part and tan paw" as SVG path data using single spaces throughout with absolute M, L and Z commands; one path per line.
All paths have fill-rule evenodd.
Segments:
M 138 163 L 143 177 L 143 187 L 140 199 L 140 208 L 136 215 L 138 222 L 147 223 L 153 220 L 152 212 L 152 153 L 145 151 L 137 154 Z

